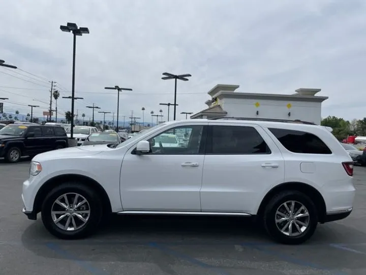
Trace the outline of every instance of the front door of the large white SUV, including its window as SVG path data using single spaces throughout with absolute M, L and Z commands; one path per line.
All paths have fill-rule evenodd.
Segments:
M 206 126 L 194 123 L 163 129 L 149 137 L 150 153 L 136 155 L 132 147 L 120 173 L 124 210 L 201 211 L 205 132 Z

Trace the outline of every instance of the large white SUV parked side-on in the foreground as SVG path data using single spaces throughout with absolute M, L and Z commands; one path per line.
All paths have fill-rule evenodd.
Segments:
M 159 137 L 184 132 L 188 143 Z M 81 238 L 108 213 L 255 216 L 282 243 L 347 217 L 352 159 L 322 126 L 258 120 L 159 124 L 119 145 L 72 147 L 33 158 L 23 212 L 59 238 Z

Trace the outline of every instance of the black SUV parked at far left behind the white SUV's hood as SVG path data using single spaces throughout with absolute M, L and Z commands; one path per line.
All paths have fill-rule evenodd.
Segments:
M 65 147 L 68 137 L 61 126 L 9 124 L 0 130 L 0 157 L 9 162 Z

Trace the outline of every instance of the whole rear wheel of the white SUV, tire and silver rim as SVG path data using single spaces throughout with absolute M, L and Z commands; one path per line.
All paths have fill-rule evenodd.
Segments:
M 284 204 L 287 203 L 291 211 L 292 202 L 294 202 L 294 211 L 292 213 L 296 213 L 301 206 L 304 207 L 299 212 L 303 214 L 301 217 L 294 218 L 288 215 Z M 281 212 L 281 214 L 278 214 L 278 212 Z M 280 218 L 283 218 L 283 221 L 276 223 L 276 219 Z M 300 244 L 310 239 L 314 234 L 318 225 L 318 212 L 314 202 L 307 195 L 299 191 L 287 190 L 277 194 L 268 202 L 264 210 L 263 222 L 267 233 L 276 241 L 284 244 Z M 292 234 L 289 232 L 290 224 Z M 307 227 L 304 225 L 307 225 Z M 285 233 L 280 228 L 284 229 Z

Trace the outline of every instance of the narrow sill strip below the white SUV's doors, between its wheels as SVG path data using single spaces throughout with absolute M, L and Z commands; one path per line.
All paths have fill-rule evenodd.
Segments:
M 186 211 L 120 211 L 119 215 L 205 215 L 205 216 L 246 216 L 248 213 L 237 212 L 186 212 Z

